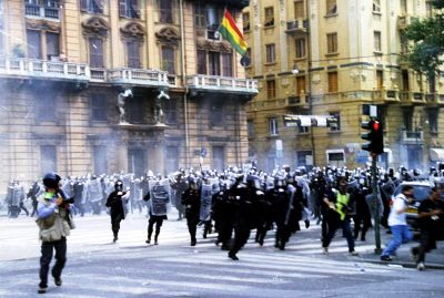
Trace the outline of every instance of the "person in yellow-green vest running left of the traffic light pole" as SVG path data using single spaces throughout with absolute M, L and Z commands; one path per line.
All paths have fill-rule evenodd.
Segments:
M 329 206 L 329 232 L 325 238 L 322 239 L 324 254 L 329 253 L 329 245 L 334 237 L 337 228 L 342 228 L 342 233 L 347 240 L 349 254 L 356 256 L 354 250 L 354 238 L 350 226 L 351 215 L 353 213 L 353 199 L 347 192 L 347 182 L 345 178 L 339 181 L 339 192 L 332 192 L 330 197 L 324 197 L 324 203 Z

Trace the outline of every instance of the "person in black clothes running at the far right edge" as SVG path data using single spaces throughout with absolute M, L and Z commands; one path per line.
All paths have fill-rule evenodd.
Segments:
M 444 201 L 441 199 L 441 189 L 433 187 L 428 198 L 421 202 L 418 208 L 421 227 L 420 246 L 412 248 L 412 256 L 418 270 L 425 269 L 425 253 L 436 248 L 436 240 L 444 230 Z

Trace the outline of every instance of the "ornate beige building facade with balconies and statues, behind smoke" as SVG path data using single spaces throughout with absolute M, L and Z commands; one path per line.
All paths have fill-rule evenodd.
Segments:
M 248 3 L 0 0 L 0 184 L 241 166 L 258 88 L 216 29 Z

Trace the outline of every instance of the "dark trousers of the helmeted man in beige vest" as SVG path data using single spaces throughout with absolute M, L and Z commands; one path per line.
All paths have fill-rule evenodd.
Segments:
M 40 258 L 40 284 L 42 288 L 48 287 L 49 265 L 52 259 L 53 250 L 56 249 L 56 264 L 52 267 L 52 277 L 59 278 L 62 275 L 64 264 L 67 263 L 67 238 L 61 238 L 58 242 L 42 243 Z

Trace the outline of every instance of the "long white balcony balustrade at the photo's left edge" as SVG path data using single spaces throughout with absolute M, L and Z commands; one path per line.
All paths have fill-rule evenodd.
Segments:
M 87 64 L 22 58 L 0 58 L 0 76 L 89 80 Z

